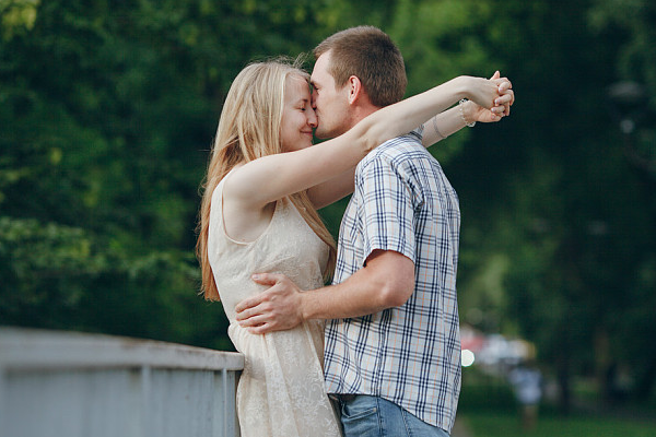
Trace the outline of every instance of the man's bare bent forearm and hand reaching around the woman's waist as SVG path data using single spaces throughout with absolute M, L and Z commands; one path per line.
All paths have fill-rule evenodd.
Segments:
M 302 292 L 283 274 L 261 273 L 254 281 L 271 287 L 241 302 L 236 318 L 251 333 L 262 334 L 304 320 L 360 317 L 401 306 L 414 292 L 414 263 L 393 250 L 374 250 L 365 267 L 341 284 Z

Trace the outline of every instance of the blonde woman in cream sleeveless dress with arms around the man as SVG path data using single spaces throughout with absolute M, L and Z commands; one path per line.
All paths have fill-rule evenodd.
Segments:
M 373 147 L 455 103 L 454 81 L 485 108 L 492 108 L 502 83 L 456 78 L 314 146 L 317 119 L 307 73 L 269 61 L 246 67 L 233 82 L 208 168 L 197 251 L 206 298 L 223 302 L 229 335 L 246 358 L 237 389 L 242 436 L 340 435 L 324 390 L 323 322 L 254 335 L 236 323 L 234 308 L 261 291 L 253 272 L 284 273 L 304 290 L 324 283 L 336 250 L 313 204 L 314 190 L 349 177 Z M 487 115 L 488 121 L 501 118 Z

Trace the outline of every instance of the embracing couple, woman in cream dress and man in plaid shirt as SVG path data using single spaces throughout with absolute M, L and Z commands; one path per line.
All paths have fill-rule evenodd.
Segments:
M 458 76 L 402 99 L 401 54 L 371 26 L 314 55 L 312 75 L 237 75 L 203 187 L 197 252 L 245 356 L 242 436 L 447 436 L 460 213 L 426 147 L 508 115 L 511 83 Z M 350 193 L 337 249 L 317 210 Z

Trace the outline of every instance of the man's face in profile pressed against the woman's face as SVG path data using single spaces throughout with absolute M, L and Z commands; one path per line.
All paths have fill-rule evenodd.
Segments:
M 351 128 L 349 120 L 348 86 L 337 88 L 328 72 L 330 50 L 319 56 L 312 72 L 312 105 L 317 115 L 315 135 L 320 139 L 335 138 Z

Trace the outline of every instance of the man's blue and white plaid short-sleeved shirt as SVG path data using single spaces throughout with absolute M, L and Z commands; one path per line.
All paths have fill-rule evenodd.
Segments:
M 359 164 L 335 275 L 341 283 L 373 250 L 395 250 L 414 262 L 414 292 L 401 307 L 327 323 L 326 388 L 385 398 L 450 433 L 460 391 L 460 211 L 420 135 L 390 140 Z

